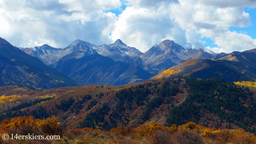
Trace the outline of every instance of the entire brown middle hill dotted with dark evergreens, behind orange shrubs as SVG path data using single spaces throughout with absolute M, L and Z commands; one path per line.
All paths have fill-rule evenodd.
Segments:
M 211 128 L 241 127 L 256 132 L 255 93 L 223 79 L 181 77 L 123 86 L 90 85 L 37 92 L 9 86 L 0 90 L 1 120 L 55 115 L 69 128 L 101 130 L 118 125 L 137 127 L 151 120 L 166 126 L 193 121 Z

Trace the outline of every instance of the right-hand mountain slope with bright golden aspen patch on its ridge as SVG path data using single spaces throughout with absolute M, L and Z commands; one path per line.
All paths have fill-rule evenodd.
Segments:
M 196 78 L 217 77 L 228 82 L 255 81 L 255 56 L 255 52 L 232 52 L 218 60 L 188 60 L 151 79 L 167 79 L 183 75 Z

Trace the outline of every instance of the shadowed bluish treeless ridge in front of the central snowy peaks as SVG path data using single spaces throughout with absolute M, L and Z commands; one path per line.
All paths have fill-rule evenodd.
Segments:
M 140 67 L 125 65 L 100 54 L 80 59 L 60 59 L 55 69 L 68 75 L 80 85 L 128 84 L 134 79 L 147 80 L 153 75 Z

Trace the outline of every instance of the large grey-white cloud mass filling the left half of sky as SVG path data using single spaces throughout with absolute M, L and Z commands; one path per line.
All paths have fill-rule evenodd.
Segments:
M 76 39 L 110 43 L 117 17 L 105 11 L 120 6 L 119 0 L 3 0 L 0 33 L 17 47 L 66 47 Z

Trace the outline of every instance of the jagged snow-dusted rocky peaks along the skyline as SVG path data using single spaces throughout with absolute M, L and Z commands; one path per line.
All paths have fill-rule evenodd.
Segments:
M 79 59 L 95 53 L 109 57 L 116 62 L 139 66 L 151 74 L 158 74 L 174 65 L 190 59 L 214 59 L 226 53 L 214 53 L 204 49 L 186 49 L 171 40 L 164 40 L 142 53 L 134 47 L 127 46 L 120 39 L 113 44 L 94 44 L 76 40 L 64 49 L 52 48 L 49 45 L 34 48 L 20 48 L 29 55 L 35 56 L 47 65 L 56 66 L 57 62 L 69 58 Z

